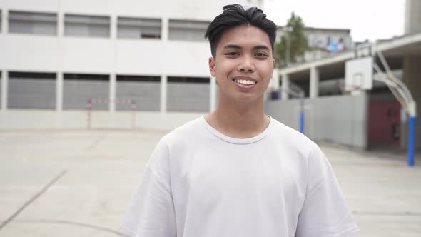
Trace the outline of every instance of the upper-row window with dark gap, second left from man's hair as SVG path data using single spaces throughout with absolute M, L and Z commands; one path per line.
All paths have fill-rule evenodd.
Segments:
M 161 19 L 118 17 L 118 38 L 161 39 Z

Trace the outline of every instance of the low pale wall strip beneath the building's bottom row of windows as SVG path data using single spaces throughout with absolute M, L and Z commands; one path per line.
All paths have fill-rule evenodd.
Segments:
M 136 112 L 136 129 L 173 130 L 178 126 L 206 113 Z M 92 111 L 91 128 L 132 128 L 131 111 Z M 62 111 L 60 113 L 41 109 L 9 109 L 0 112 L 0 131 L 16 129 L 86 129 L 86 111 Z

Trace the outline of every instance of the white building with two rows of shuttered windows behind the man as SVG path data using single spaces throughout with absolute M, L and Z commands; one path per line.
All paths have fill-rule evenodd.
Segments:
M 149 128 L 173 128 L 215 109 L 204 34 L 230 3 L 1 1 L 0 128 L 84 127 L 89 99 L 92 126 L 130 126 L 124 110 L 132 100 L 136 126 Z

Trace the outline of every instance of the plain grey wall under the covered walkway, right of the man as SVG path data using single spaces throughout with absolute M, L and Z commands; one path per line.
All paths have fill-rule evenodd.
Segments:
M 304 133 L 314 141 L 367 148 L 367 95 L 304 100 Z M 268 101 L 264 111 L 291 128 L 300 127 L 300 100 Z

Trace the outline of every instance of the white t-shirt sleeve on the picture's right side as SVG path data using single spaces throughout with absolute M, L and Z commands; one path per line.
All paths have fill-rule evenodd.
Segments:
M 345 237 L 359 231 L 332 166 L 315 145 L 308 157 L 308 186 L 295 237 Z

